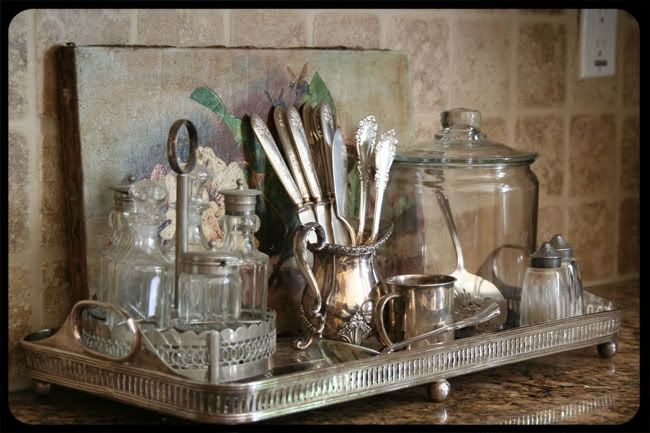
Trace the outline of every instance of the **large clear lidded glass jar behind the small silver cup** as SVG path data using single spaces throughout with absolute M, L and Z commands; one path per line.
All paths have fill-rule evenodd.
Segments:
M 451 274 L 459 265 L 455 226 L 464 269 L 494 283 L 516 310 L 536 246 L 537 155 L 488 140 L 478 111 L 457 108 L 440 119 L 435 139 L 401 151 L 391 168 L 383 214 L 395 231 L 380 256 L 384 275 Z M 444 197 L 454 224 L 441 211 Z

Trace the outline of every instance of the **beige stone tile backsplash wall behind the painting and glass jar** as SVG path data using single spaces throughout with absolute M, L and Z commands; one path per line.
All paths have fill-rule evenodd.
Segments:
M 32 9 L 9 27 L 9 372 L 26 333 L 72 306 L 55 46 L 346 46 L 409 54 L 420 142 L 440 111 L 483 113 L 493 140 L 539 152 L 538 241 L 563 233 L 586 283 L 639 274 L 639 26 L 619 12 L 613 77 L 580 79 L 578 10 Z M 205 66 L 209 68 L 209 65 Z M 406 143 L 404 143 L 406 144 Z

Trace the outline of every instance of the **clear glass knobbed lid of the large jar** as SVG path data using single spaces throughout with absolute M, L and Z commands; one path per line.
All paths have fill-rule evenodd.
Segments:
M 481 113 L 454 108 L 440 114 L 442 131 L 433 143 L 421 143 L 405 149 L 395 157 L 396 163 L 420 164 L 510 164 L 532 163 L 537 153 L 513 149 L 488 140 L 481 132 Z

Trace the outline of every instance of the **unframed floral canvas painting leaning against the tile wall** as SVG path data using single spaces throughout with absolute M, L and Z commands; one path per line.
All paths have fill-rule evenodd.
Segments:
M 149 178 L 165 184 L 175 200 L 166 143 L 177 119 L 196 126 L 198 163 L 213 175 L 202 217 L 208 239 L 222 237 L 219 190 L 242 178 L 262 192 L 256 239 L 271 257 L 269 306 L 278 313 L 280 331 L 298 323 L 304 280 L 291 245 L 299 221 L 254 138 L 250 116 L 271 126 L 276 105 L 327 101 L 350 154 L 356 125 L 368 114 L 382 128 L 394 128 L 400 142 L 413 141 L 409 64 L 401 52 L 69 44 L 59 48 L 58 62 L 75 301 L 92 297 L 98 284 L 97 256 L 110 242 L 109 186 L 128 176 Z M 159 231 L 163 243 L 174 232 L 172 209 L 167 216 Z

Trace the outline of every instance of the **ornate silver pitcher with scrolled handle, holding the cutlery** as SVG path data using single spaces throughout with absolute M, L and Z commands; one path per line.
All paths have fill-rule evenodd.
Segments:
M 312 232 L 316 243 L 308 242 Z M 375 252 L 392 232 L 393 224 L 382 221 L 375 242 L 348 246 L 325 243 L 325 232 L 318 223 L 307 223 L 298 230 L 293 250 L 307 280 L 301 302 L 307 336 L 296 344 L 299 349 L 309 347 L 314 337 L 361 344 L 375 332 L 372 313 L 386 293 L 376 269 Z M 309 251 L 314 255 L 313 270 Z

